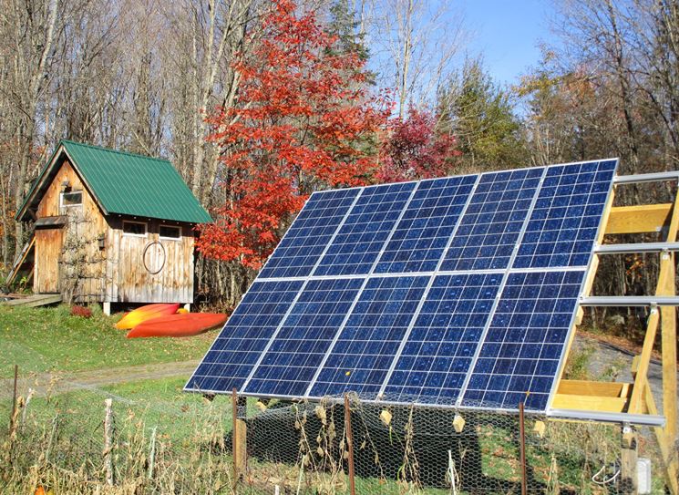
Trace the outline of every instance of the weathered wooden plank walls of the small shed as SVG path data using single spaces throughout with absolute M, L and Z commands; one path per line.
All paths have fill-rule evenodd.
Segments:
M 65 161 L 50 183 L 36 210 L 37 218 L 67 214 L 71 208 L 60 206 L 63 184 L 68 181 L 71 191 L 83 192 L 82 214 L 87 222 L 68 222 L 67 226 L 36 230 L 36 293 L 63 291 L 64 280 L 60 262 L 62 246 L 69 233 L 87 240 L 86 253 L 90 260 L 103 255 L 100 266 L 93 263 L 88 270 L 97 274 L 80 281 L 77 302 L 143 302 L 193 303 L 193 231 L 190 225 L 162 222 L 157 219 L 137 219 L 120 216 L 104 217 L 97 202 L 85 188 L 76 170 Z M 146 222 L 146 237 L 126 235 L 122 221 Z M 178 240 L 159 239 L 159 226 L 179 226 Z M 104 235 L 104 250 L 100 251 L 98 236 Z M 159 273 L 149 273 L 144 266 L 144 248 L 149 242 L 162 244 L 165 261 Z M 149 249 L 149 264 L 159 267 L 159 252 Z

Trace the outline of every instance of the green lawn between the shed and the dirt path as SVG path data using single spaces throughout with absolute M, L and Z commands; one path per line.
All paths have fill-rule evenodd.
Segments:
M 0 377 L 18 364 L 21 371 L 78 371 L 200 359 L 214 332 L 190 338 L 128 339 L 113 325 L 120 315 L 95 308 L 85 319 L 68 306 L 21 308 L 0 306 Z

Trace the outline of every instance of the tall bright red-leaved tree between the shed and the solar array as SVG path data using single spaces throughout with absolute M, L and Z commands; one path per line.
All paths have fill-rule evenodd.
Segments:
M 226 201 L 197 245 L 257 269 L 311 192 L 372 179 L 388 108 L 368 97 L 359 55 L 335 50 L 336 38 L 293 0 L 274 0 L 251 41 L 252 54 L 233 64 L 237 103 L 209 118 Z

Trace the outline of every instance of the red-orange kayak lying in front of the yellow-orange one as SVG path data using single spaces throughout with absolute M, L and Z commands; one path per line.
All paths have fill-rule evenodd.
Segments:
M 199 335 L 226 323 L 226 315 L 216 313 L 185 313 L 147 320 L 128 332 L 135 337 L 188 337 Z

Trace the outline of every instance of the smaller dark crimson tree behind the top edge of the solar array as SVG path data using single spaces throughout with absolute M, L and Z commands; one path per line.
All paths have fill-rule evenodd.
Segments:
M 379 182 L 448 175 L 461 154 L 455 137 L 437 132 L 437 119 L 427 110 L 410 107 L 406 119 L 393 119 L 388 127 L 376 173 Z

